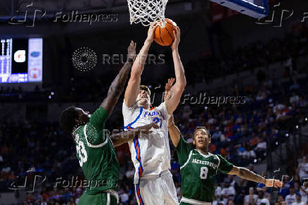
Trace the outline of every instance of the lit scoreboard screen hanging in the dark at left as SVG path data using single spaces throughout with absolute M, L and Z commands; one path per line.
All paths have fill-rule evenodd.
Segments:
M 42 82 L 42 38 L 2 38 L 0 83 Z

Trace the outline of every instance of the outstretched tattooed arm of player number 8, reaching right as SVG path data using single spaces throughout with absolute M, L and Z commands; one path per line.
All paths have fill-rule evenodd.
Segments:
M 244 180 L 249 180 L 257 183 L 262 183 L 266 185 L 266 187 L 282 187 L 283 183 L 280 182 L 280 180 L 275 179 L 266 179 L 264 177 L 261 177 L 260 175 L 257 175 L 254 172 L 251 172 L 251 170 L 248 170 L 247 168 L 241 168 L 237 166 L 233 166 L 232 170 L 227 173 L 228 175 L 237 175 L 241 177 Z

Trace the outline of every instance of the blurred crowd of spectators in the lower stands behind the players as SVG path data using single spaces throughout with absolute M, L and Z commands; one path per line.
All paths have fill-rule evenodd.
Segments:
M 296 83 L 297 86 L 294 86 Z M 302 107 L 307 107 L 307 78 L 283 84 L 261 81 L 257 86 L 233 86 L 228 96 L 245 96 L 242 105 L 179 105 L 174 119 L 186 141 L 192 141 L 196 126 L 206 126 L 212 135 L 210 151 L 219 153 L 231 163 L 254 170 L 254 165 L 264 162 L 268 154 L 279 144 L 288 142 L 289 135 L 304 123 Z M 220 91 L 218 91 L 217 95 Z M 216 106 L 216 107 L 215 107 Z M 121 115 L 121 113 L 113 113 Z M 112 121 L 113 119 L 109 119 Z M 112 126 L 122 127 L 122 122 Z M 296 127 L 297 126 L 297 127 Z M 114 129 L 114 127 L 109 127 Z M 0 189 L 7 187 L 18 177 L 30 172 L 42 172 L 47 183 L 40 192 L 28 193 L 25 204 L 76 204 L 81 196 L 81 187 L 54 187 L 57 177 L 69 178 L 82 175 L 71 136 L 65 135 L 57 122 L 1 122 L 0 124 Z M 170 143 L 171 145 L 171 143 Z M 171 146 L 172 175 L 179 199 L 180 174 L 177 155 Z M 300 154 L 300 151 L 297 151 Z M 291 153 L 290 153 L 291 154 Z M 117 149 L 120 163 L 119 197 L 121 204 L 136 204 L 131 163 L 127 146 Z M 286 162 L 288 165 L 288 162 Z M 300 180 L 308 177 L 308 163 L 305 157 L 297 168 L 288 165 L 288 175 L 296 179 L 285 183 L 279 192 L 279 204 L 292 204 L 307 200 L 308 187 Z M 259 173 L 260 174 L 260 173 Z M 263 173 L 266 175 L 266 172 Z M 286 180 L 288 180 L 286 178 Z M 251 188 L 250 188 L 251 187 Z M 214 204 L 268 204 L 271 189 L 265 189 L 254 182 L 221 175 L 216 177 Z M 301 198 L 301 199 L 300 199 Z

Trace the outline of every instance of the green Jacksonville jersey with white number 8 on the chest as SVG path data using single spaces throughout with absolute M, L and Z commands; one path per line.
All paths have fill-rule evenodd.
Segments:
M 202 154 L 188 144 L 183 136 L 177 145 L 177 156 L 181 165 L 181 193 L 183 197 L 198 201 L 211 202 L 215 194 L 215 175 L 233 168 L 220 155 Z

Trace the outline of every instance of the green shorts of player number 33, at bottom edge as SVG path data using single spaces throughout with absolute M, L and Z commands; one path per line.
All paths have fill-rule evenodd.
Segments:
M 117 205 L 117 198 L 107 192 L 87 194 L 84 192 L 78 201 L 78 205 Z

